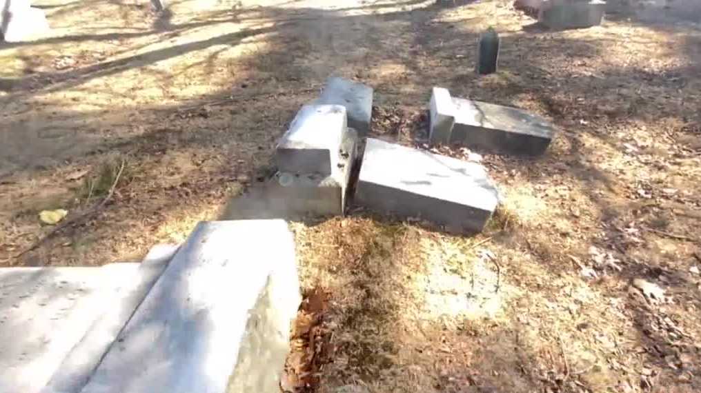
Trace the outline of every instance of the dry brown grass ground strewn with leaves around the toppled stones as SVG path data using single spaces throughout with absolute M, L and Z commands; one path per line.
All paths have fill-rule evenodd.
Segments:
M 292 223 L 306 301 L 283 387 L 701 390 L 697 25 L 548 32 L 506 1 L 33 5 L 50 35 L 0 43 L 2 266 L 136 260 L 226 218 L 329 74 L 374 87 L 372 136 L 414 146 L 438 85 L 559 133 L 540 158 L 482 155 L 503 205 L 479 235 L 357 208 Z M 500 71 L 478 77 L 490 26 Z M 57 208 L 52 232 L 37 214 Z

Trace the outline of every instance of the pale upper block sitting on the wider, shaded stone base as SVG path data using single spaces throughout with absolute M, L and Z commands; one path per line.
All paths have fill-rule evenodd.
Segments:
M 283 172 L 332 174 L 339 149 L 348 132 L 346 108 L 305 105 L 278 142 L 275 163 Z

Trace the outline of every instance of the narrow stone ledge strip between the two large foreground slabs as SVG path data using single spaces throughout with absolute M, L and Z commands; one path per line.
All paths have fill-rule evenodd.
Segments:
M 119 332 L 168 266 L 177 248 L 175 244 L 160 244 L 151 248 L 131 278 L 130 285 L 116 291 L 111 299 L 101 305 L 103 310 L 109 312 L 95 320 L 57 367 L 41 393 L 79 393 L 83 389 Z

